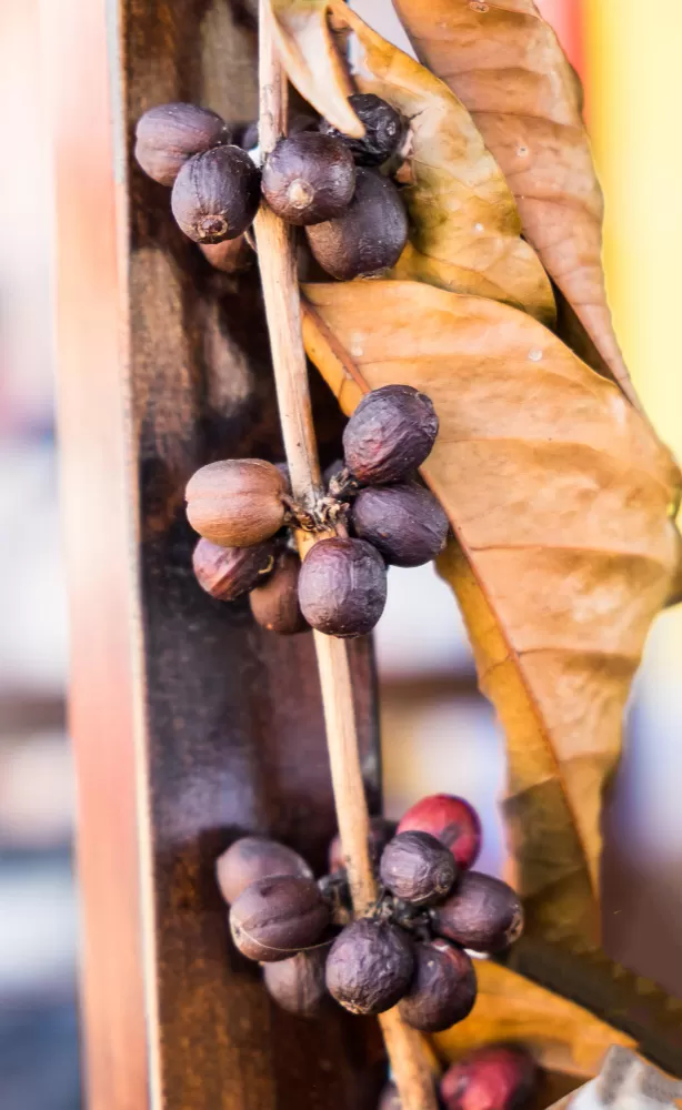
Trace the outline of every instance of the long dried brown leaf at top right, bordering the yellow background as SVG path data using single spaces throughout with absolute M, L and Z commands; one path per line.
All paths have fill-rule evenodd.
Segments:
M 568 302 L 566 340 L 638 404 L 606 303 L 602 194 L 580 85 L 532 0 L 395 0 L 420 59 L 471 112 Z

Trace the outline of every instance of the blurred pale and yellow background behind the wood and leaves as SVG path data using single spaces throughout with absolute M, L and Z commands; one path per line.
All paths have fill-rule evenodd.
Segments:
M 538 2 L 585 83 L 621 343 L 654 424 L 682 457 L 682 9 L 678 0 L 659 0 L 655 9 L 641 0 Z M 389 0 L 354 7 L 405 46 Z M 77 1110 L 78 912 L 54 441 L 54 213 L 39 9 L 39 0 L 0 7 L 0 1107 Z M 501 738 L 477 694 L 451 595 L 431 568 L 391 572 L 378 652 L 387 811 L 398 816 L 435 789 L 465 795 L 484 818 L 481 867 L 500 871 Z M 605 819 L 604 862 L 611 953 L 679 995 L 681 657 L 682 610 L 673 610 L 659 619 L 638 679 Z

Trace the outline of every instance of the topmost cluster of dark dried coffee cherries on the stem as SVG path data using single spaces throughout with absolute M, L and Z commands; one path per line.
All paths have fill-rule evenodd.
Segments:
M 398 168 L 407 124 L 379 97 L 358 93 L 350 103 L 364 124 L 362 139 L 304 117 L 262 168 L 254 125 L 232 128 L 194 104 L 161 104 L 138 122 L 136 158 L 150 178 L 172 186 L 177 223 L 219 269 L 239 269 L 238 241 L 262 196 L 282 220 L 305 229 L 310 251 L 332 278 L 374 276 L 395 264 L 408 239 L 399 189 L 379 172 Z

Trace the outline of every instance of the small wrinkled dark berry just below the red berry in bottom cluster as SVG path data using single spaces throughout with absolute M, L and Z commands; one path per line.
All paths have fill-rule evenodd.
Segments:
M 452 854 L 429 833 L 399 833 L 383 849 L 379 874 L 384 887 L 402 901 L 428 906 L 452 888 Z

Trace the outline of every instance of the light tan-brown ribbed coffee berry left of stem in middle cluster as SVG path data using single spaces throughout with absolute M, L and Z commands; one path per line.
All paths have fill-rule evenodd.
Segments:
M 187 516 L 199 535 L 221 547 L 262 543 L 284 523 L 283 475 L 262 458 L 209 463 L 187 484 Z

